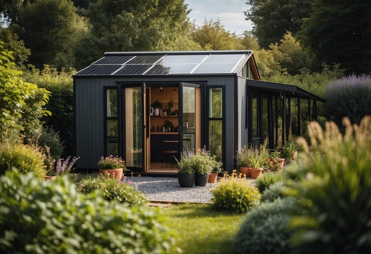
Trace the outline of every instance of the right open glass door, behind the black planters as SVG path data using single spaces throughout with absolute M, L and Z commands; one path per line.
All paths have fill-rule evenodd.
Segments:
M 180 83 L 180 145 L 183 152 L 201 148 L 201 93 L 200 85 Z

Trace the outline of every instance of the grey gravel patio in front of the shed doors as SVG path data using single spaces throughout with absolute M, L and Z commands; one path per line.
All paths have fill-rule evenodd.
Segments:
M 128 177 L 129 180 L 138 185 L 138 190 L 145 193 L 148 200 L 153 201 L 210 202 L 213 197 L 210 190 L 217 184 L 181 188 L 178 178 L 173 177 Z

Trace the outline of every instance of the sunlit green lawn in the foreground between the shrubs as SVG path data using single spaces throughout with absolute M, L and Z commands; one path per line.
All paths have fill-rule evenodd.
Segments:
M 164 208 L 165 225 L 177 234 L 183 253 L 231 253 L 243 215 L 220 213 L 210 204 L 178 204 Z

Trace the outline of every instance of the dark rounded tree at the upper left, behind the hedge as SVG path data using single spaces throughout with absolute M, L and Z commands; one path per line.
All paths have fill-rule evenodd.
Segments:
M 52 63 L 58 52 L 69 49 L 76 30 L 75 11 L 70 0 L 37 0 L 20 7 L 13 23 L 26 48 L 31 49 L 29 63 L 42 68 Z

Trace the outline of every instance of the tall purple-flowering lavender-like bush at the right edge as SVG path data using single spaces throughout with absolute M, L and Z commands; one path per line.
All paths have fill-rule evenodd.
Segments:
M 371 76 L 352 75 L 332 81 L 326 87 L 328 116 L 341 126 L 343 117 L 359 124 L 371 114 Z

